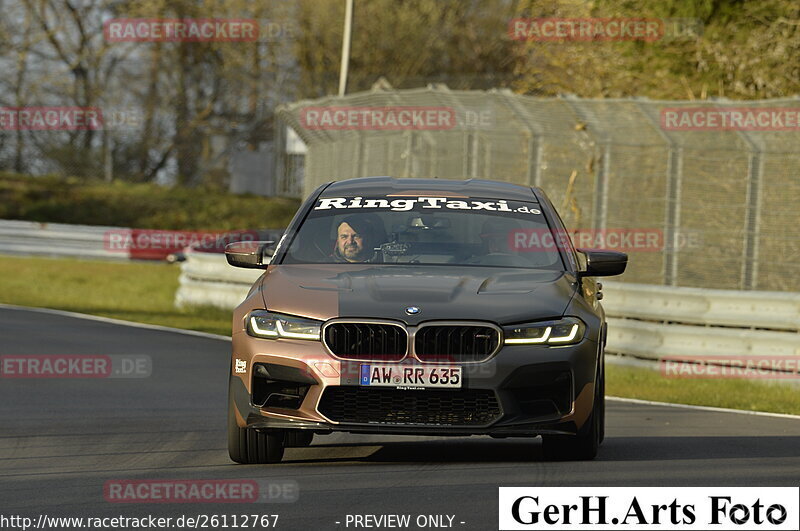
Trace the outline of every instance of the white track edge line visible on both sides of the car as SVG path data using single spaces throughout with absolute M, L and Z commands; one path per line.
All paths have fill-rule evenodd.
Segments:
M 89 321 L 99 321 L 101 323 L 111 323 L 116 325 L 122 326 L 130 326 L 133 328 L 144 328 L 146 330 L 160 330 L 162 332 L 175 332 L 177 334 L 184 334 L 187 336 L 197 336 L 197 337 L 205 337 L 208 339 L 220 339 L 223 341 L 230 341 L 231 338 L 228 336 L 221 336 L 219 334 L 209 334 L 208 332 L 198 332 L 196 330 L 183 330 L 181 328 L 172 328 L 170 326 L 161 326 L 161 325 L 152 325 L 146 323 L 135 323 L 133 321 L 125 321 L 122 319 L 112 319 L 110 317 L 99 317 L 97 315 L 89 315 L 86 313 L 77 313 L 77 312 L 68 312 L 65 310 L 53 310 L 51 308 L 33 308 L 29 306 L 16 306 L 13 304 L 2 304 L 0 303 L 0 308 L 5 310 L 25 310 L 30 312 L 40 312 L 40 313 L 48 313 L 52 315 L 63 315 L 66 317 L 74 317 L 76 319 L 87 319 Z M 655 402 L 652 400 L 640 400 L 638 398 L 622 398 L 619 396 L 607 396 L 608 400 L 612 400 L 615 402 L 629 402 L 631 404 L 642 404 L 648 406 L 665 406 L 665 407 L 677 407 L 681 409 L 695 409 L 700 411 L 715 411 L 717 413 L 738 413 L 740 415 L 756 415 L 759 417 L 776 417 L 776 418 L 783 418 L 783 419 L 795 419 L 800 420 L 800 415 L 788 415 L 786 413 L 769 413 L 767 411 L 748 411 L 745 409 L 730 409 L 730 408 L 723 408 L 723 407 L 712 407 L 712 406 L 694 406 L 690 404 L 676 404 L 673 402 Z

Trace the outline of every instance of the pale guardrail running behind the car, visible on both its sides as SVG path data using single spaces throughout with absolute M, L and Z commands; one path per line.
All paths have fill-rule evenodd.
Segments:
M 221 254 L 190 253 L 177 305 L 233 308 L 261 270 Z M 603 282 L 609 353 L 645 360 L 737 356 L 800 358 L 800 294 Z

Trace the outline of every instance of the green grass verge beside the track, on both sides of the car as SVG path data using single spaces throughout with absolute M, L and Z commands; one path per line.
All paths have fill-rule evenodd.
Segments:
M 174 307 L 179 273 L 177 265 L 165 263 L 0 256 L 0 302 L 230 335 L 230 311 Z M 606 371 L 606 391 L 613 396 L 800 414 L 796 386 L 664 378 L 613 364 Z

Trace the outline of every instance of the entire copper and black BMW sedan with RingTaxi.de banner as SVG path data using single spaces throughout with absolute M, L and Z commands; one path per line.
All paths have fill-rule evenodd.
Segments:
M 606 324 L 594 277 L 627 256 L 574 249 L 541 189 L 369 177 L 318 188 L 233 317 L 229 453 L 280 461 L 333 431 L 603 441 Z

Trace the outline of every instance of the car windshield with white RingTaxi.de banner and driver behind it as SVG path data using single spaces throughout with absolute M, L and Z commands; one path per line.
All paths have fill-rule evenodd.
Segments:
M 283 264 L 381 263 L 563 270 L 538 203 L 474 197 L 319 198 Z

